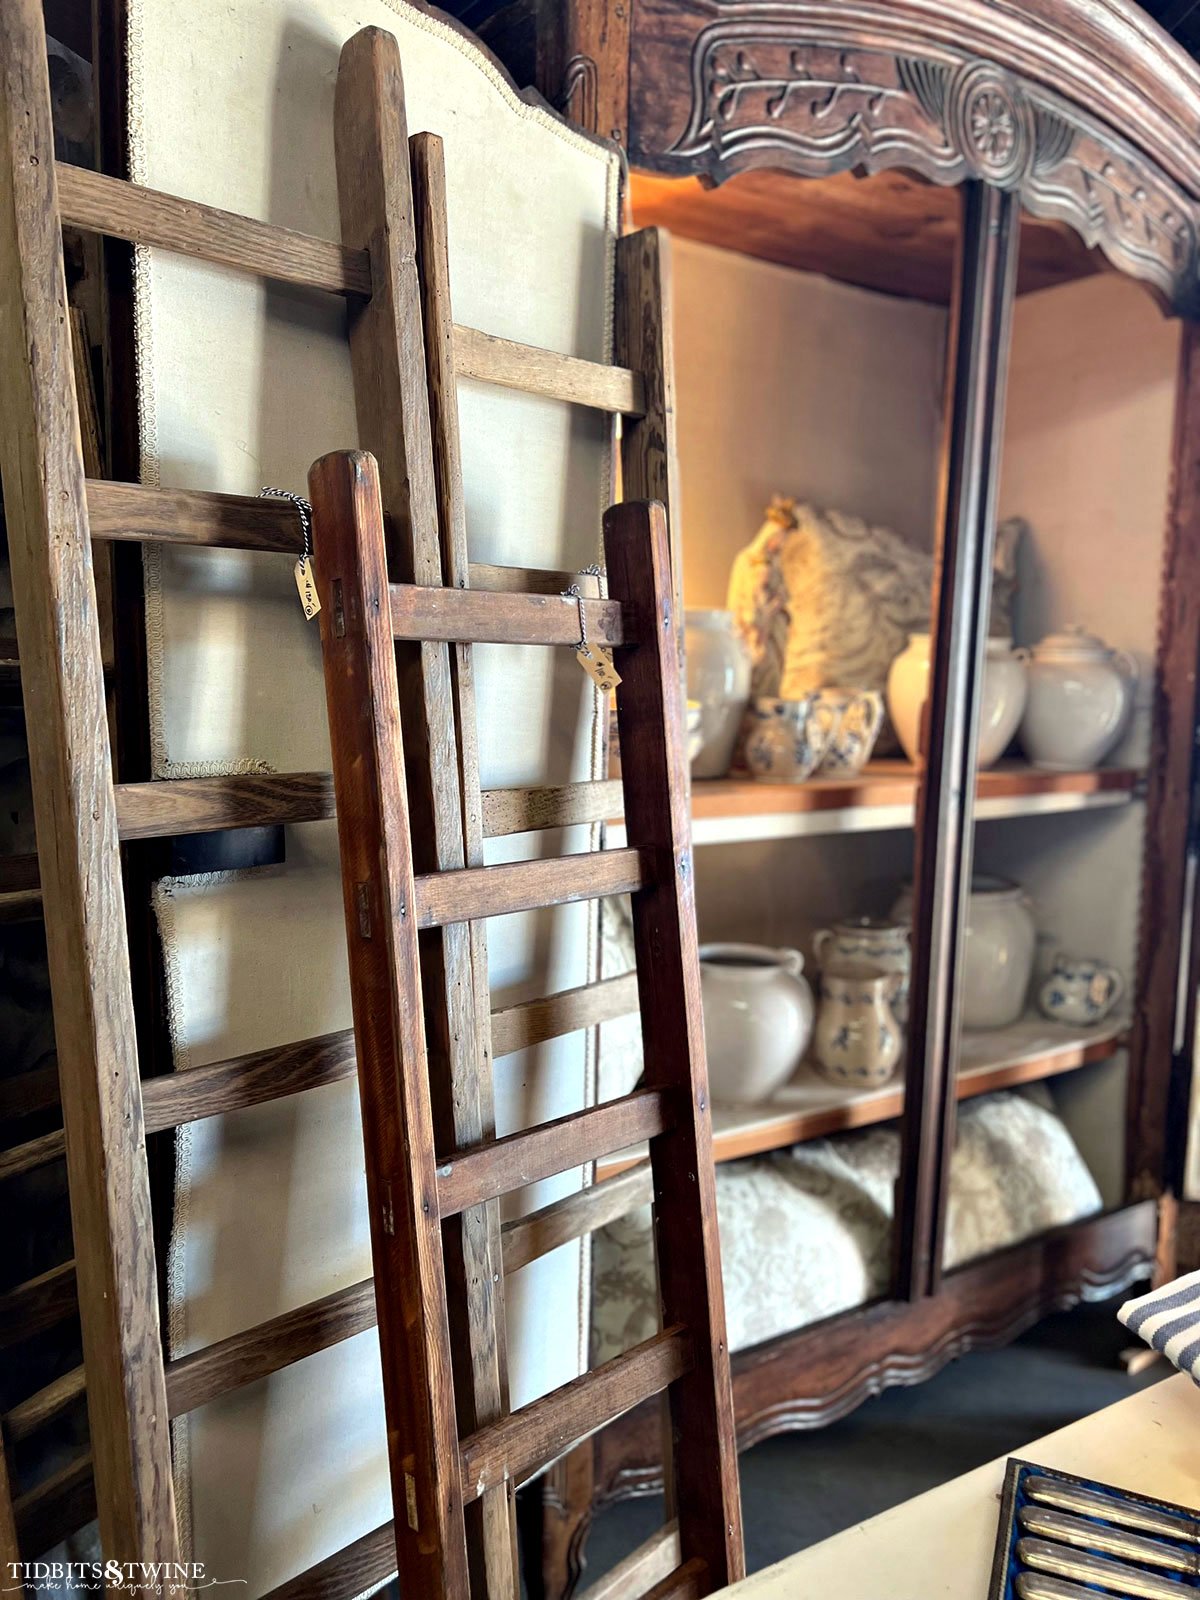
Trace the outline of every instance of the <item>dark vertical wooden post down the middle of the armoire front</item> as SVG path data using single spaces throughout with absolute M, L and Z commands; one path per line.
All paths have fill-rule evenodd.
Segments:
M 954 1147 L 958 965 L 971 885 L 976 726 L 987 642 L 1019 200 L 963 186 L 947 357 L 933 664 L 917 800 L 912 1005 L 896 1189 L 896 1293 L 934 1293 Z

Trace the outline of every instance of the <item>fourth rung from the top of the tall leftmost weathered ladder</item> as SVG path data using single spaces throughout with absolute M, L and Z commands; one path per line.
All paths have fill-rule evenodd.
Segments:
M 146 1131 L 162 1133 L 184 1122 L 299 1094 L 349 1078 L 354 1069 L 354 1029 L 347 1027 L 184 1072 L 165 1072 L 142 1082 Z

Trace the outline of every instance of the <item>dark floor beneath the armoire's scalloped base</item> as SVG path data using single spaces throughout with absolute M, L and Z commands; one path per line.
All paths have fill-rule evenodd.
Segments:
M 1019 1451 L 1101 1406 L 1157 1382 L 1157 1362 L 1128 1378 L 1131 1341 L 1115 1304 L 1050 1317 L 1016 1344 L 954 1362 L 915 1389 L 891 1389 L 814 1434 L 766 1440 L 741 1458 L 746 1562 L 770 1566 L 901 1501 Z M 587 1546 L 584 1584 L 661 1525 L 659 1499 L 603 1512 Z

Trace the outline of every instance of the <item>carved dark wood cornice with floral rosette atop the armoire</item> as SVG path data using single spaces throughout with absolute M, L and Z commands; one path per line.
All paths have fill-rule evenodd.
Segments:
M 701 29 L 686 126 L 664 154 L 634 158 L 717 182 L 754 166 L 982 179 L 1016 190 L 1034 216 L 1074 227 L 1174 309 L 1197 310 L 1195 202 L 1110 128 L 990 61 L 800 32 L 778 10 L 744 6 Z

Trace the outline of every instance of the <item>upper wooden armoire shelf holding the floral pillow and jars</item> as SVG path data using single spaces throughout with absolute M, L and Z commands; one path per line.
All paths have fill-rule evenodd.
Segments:
M 1128 805 L 1141 773 L 1101 766 L 1086 773 L 1046 773 L 1002 762 L 979 773 L 976 821 L 1093 811 Z M 917 768 L 870 762 L 853 778 L 813 778 L 805 784 L 763 784 L 754 778 L 701 779 L 691 786 L 693 845 L 736 845 L 758 838 L 821 834 L 878 834 L 912 827 Z M 610 824 L 610 848 L 624 845 L 624 827 Z

